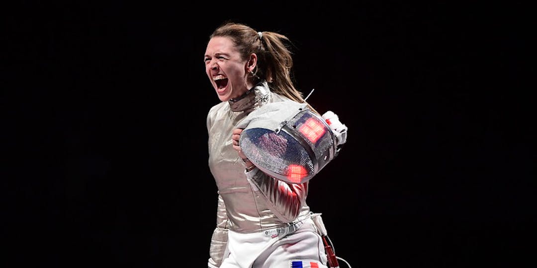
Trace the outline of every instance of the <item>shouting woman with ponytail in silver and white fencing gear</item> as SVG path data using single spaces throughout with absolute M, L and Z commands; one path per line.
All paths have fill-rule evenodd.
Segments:
M 238 145 L 236 125 L 251 111 L 273 102 L 306 103 L 293 85 L 287 41 L 237 23 L 209 37 L 205 71 L 221 101 L 207 115 L 209 168 L 219 193 L 209 267 L 328 267 L 324 227 L 316 225 L 322 221 L 314 221 L 319 214 L 306 204 L 309 182 L 264 174 Z

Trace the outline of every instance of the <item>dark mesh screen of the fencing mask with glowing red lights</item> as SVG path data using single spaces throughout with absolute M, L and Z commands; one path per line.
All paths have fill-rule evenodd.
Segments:
M 265 128 L 246 128 L 239 143 L 246 157 L 265 173 L 287 182 L 302 183 L 331 160 L 330 131 L 321 117 L 301 111 L 278 133 Z

